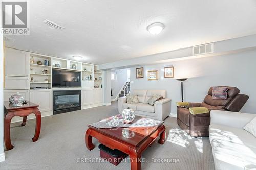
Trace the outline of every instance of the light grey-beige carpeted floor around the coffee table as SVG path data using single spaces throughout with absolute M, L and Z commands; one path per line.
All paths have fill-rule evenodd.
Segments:
M 31 138 L 35 121 L 28 120 L 25 127 L 14 123 L 11 125 L 14 148 L 5 152 L 6 160 L 0 163 L 0 169 L 130 169 L 128 161 L 118 166 L 108 162 L 81 162 L 87 158 L 99 158 L 97 140 L 93 140 L 96 148 L 92 151 L 84 144 L 87 125 L 116 114 L 116 107 L 101 106 L 44 117 L 40 137 L 34 143 Z M 173 117 L 165 119 L 164 125 L 165 143 L 155 142 L 143 153 L 146 163 L 141 164 L 141 169 L 214 169 L 208 137 L 191 138 L 178 127 Z M 178 159 L 179 162 L 152 163 L 152 158 L 157 161 Z

